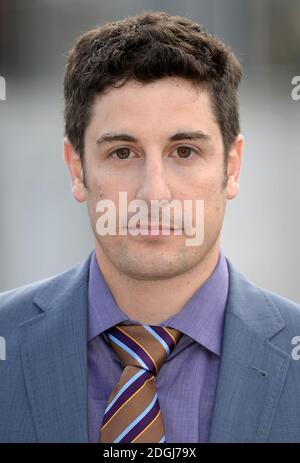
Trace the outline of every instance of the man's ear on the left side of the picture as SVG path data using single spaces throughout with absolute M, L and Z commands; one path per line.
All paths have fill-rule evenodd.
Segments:
M 66 137 L 64 138 L 64 161 L 70 171 L 73 197 L 76 201 L 82 203 L 86 200 L 82 163 L 80 155 L 74 150 L 73 145 Z

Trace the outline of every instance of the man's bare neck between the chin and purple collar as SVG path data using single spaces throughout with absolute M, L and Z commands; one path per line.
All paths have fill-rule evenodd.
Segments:
M 157 325 L 178 313 L 214 271 L 220 252 L 219 239 L 188 272 L 164 280 L 138 280 L 120 272 L 95 246 L 98 265 L 120 309 L 128 318 Z

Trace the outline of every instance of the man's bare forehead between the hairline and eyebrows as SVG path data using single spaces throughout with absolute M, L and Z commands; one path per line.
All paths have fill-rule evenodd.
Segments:
M 97 95 L 88 130 L 146 134 L 193 128 L 218 132 L 210 94 L 186 79 L 168 77 L 146 84 L 130 81 Z

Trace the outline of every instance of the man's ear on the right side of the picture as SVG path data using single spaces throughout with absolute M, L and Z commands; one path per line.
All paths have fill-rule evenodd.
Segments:
M 239 190 L 244 137 L 239 134 L 232 143 L 227 159 L 227 199 L 233 199 Z

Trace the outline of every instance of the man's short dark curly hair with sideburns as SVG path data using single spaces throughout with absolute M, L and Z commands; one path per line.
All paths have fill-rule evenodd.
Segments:
M 65 135 L 84 160 L 84 134 L 97 94 L 129 80 L 182 77 L 208 90 L 225 159 L 239 134 L 239 61 L 203 26 L 147 11 L 88 31 L 69 52 L 64 78 Z

